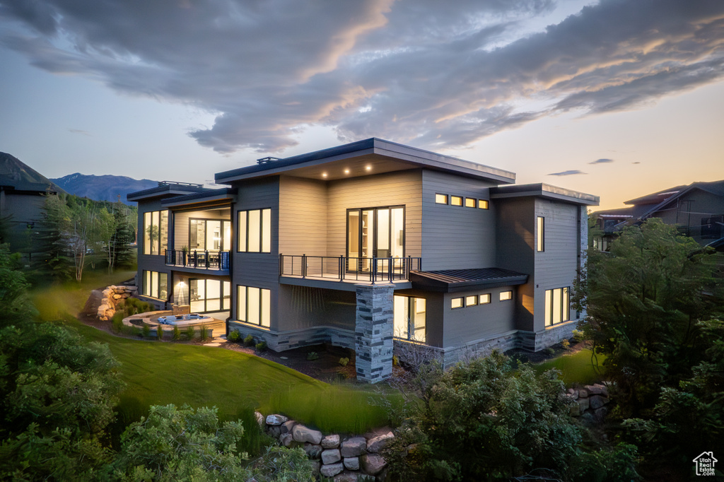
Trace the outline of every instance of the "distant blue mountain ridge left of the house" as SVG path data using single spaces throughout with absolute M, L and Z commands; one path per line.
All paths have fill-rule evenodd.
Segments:
M 110 174 L 95 176 L 93 174 L 80 174 L 80 172 L 51 180 L 70 194 L 93 200 L 107 200 L 111 201 L 111 203 L 115 203 L 119 195 L 121 201 L 127 203 L 126 195 L 128 193 L 159 185 L 158 182 L 149 179 L 138 180 L 132 177 L 112 176 Z

